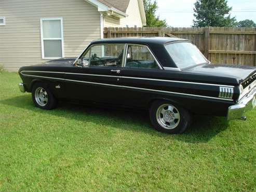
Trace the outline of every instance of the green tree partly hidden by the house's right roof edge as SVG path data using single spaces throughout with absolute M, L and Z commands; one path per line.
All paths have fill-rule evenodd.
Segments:
M 147 26 L 167 26 L 166 20 L 160 20 L 159 16 L 156 16 L 156 10 L 158 8 L 156 1 L 152 3 L 151 0 L 144 0 L 143 3 Z

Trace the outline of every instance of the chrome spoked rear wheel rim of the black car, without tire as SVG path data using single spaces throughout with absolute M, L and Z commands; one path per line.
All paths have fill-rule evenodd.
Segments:
M 156 111 L 158 124 L 165 129 L 174 129 L 180 123 L 180 113 L 171 104 L 160 105 Z

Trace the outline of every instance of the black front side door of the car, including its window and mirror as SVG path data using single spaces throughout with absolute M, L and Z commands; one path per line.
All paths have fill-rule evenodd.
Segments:
M 69 98 L 119 104 L 119 75 L 124 44 L 95 44 L 80 57 L 82 63 L 65 73 Z

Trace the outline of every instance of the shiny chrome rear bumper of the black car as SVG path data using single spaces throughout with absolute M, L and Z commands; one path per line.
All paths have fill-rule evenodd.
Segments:
M 256 87 L 248 95 L 238 101 L 237 104 L 228 107 L 227 120 L 242 119 L 246 120 L 244 113 L 256 106 Z

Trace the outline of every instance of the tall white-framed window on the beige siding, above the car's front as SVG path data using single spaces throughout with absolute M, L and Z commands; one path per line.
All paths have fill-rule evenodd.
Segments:
M 62 18 L 41 19 L 41 41 L 43 59 L 64 57 Z

